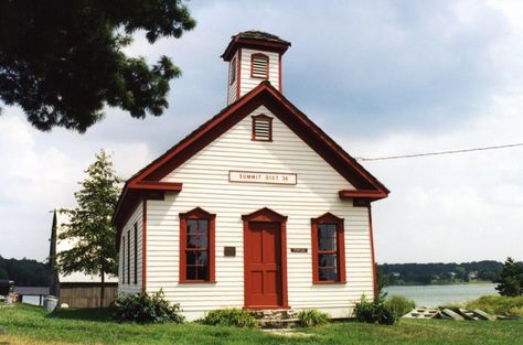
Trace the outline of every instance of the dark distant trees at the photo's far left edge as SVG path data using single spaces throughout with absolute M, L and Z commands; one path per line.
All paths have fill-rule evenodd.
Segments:
M 50 267 L 31 259 L 4 259 L 0 256 L 0 279 L 13 280 L 17 287 L 47 287 Z

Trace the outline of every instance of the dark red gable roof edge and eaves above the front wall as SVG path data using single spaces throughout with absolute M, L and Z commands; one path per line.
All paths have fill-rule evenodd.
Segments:
M 269 82 L 264 80 L 131 176 L 120 194 L 113 223 L 121 228 L 126 217 L 143 197 L 146 191 L 181 191 L 181 183 L 160 182 L 161 179 L 262 105 L 356 188 L 350 193 L 340 191 L 340 197 L 355 198 L 361 195 L 367 201 L 374 201 L 388 195 L 389 191 L 376 177 L 285 98 Z

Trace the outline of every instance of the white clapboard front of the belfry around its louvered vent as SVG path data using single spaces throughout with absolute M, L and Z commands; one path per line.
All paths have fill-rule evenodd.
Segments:
M 241 80 L 239 80 L 239 97 L 250 91 L 253 88 L 259 85 L 264 79 L 250 77 L 250 55 L 264 54 L 269 57 L 269 82 L 270 84 L 279 89 L 279 54 L 273 52 L 255 51 L 242 48 L 242 61 L 241 61 Z

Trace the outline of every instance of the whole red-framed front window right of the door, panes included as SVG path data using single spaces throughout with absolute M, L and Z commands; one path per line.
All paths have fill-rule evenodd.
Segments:
M 331 213 L 311 219 L 312 282 L 345 282 L 343 219 Z

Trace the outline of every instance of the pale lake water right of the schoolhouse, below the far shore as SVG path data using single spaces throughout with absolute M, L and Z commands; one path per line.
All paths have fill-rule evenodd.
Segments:
M 417 306 L 438 306 L 449 303 L 463 303 L 485 294 L 498 294 L 493 283 L 453 285 L 405 285 L 386 287 L 388 295 L 399 294 L 416 302 Z

